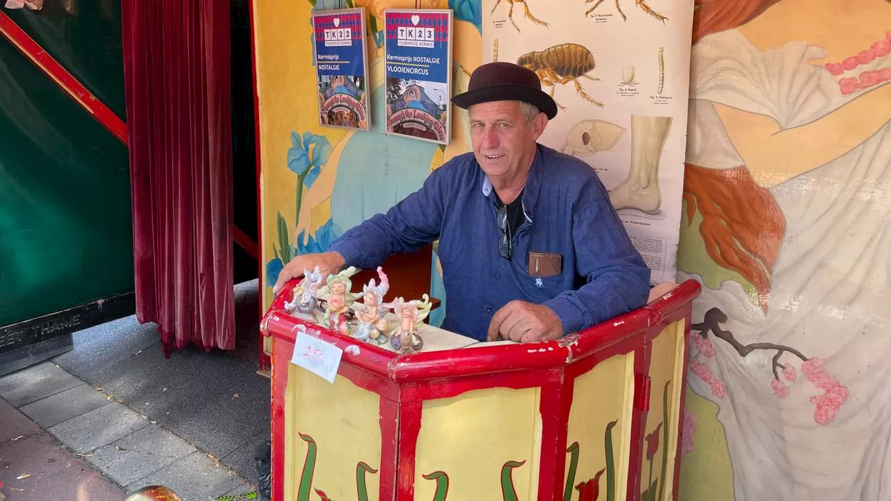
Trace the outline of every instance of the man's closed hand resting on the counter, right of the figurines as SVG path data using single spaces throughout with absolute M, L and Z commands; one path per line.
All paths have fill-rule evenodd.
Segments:
M 551 308 L 511 301 L 492 316 L 489 341 L 553 341 L 563 336 L 563 324 Z

